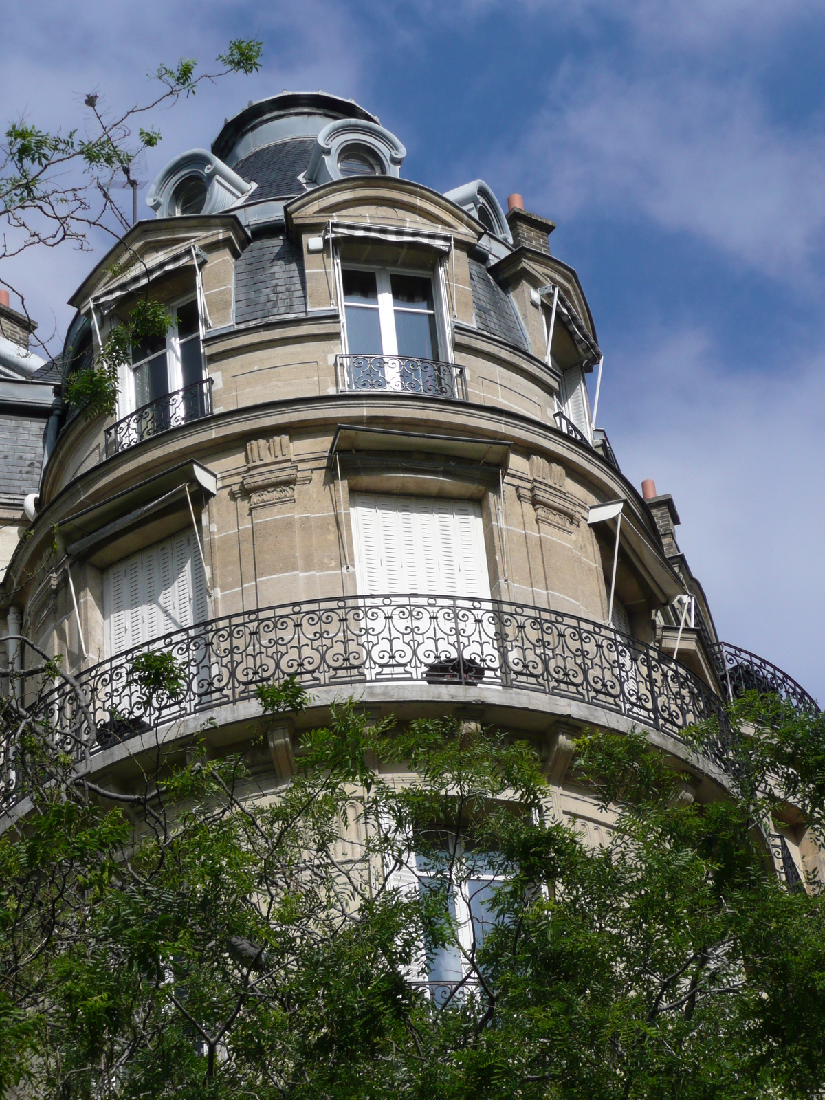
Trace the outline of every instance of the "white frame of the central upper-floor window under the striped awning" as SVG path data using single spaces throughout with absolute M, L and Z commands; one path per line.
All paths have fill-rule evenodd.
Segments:
M 411 275 L 415 278 L 426 278 L 429 279 L 430 286 L 432 287 L 432 316 L 436 320 L 436 338 L 438 346 L 433 349 L 435 361 L 441 363 L 452 363 L 452 340 L 451 340 L 451 326 L 447 309 L 447 283 L 446 283 L 446 265 L 447 260 L 443 256 L 439 256 L 436 267 L 432 270 L 421 268 L 421 267 L 402 267 L 398 265 L 386 265 L 386 264 L 369 264 L 369 263 L 349 263 L 341 260 L 340 250 L 336 249 L 336 290 L 338 295 L 339 302 L 339 315 L 341 318 L 341 346 L 343 353 L 349 353 L 349 342 L 346 337 L 346 305 L 344 302 L 343 295 L 343 272 L 346 271 L 362 271 L 372 272 L 375 275 L 377 292 L 378 292 L 378 304 L 375 306 L 356 306 L 356 309 L 375 309 L 378 310 L 378 320 L 381 324 L 381 342 L 383 348 L 375 349 L 376 355 L 386 356 L 397 356 L 398 355 L 398 340 L 395 331 L 395 306 L 393 305 L 393 290 L 391 284 L 392 275 Z M 399 307 L 404 309 L 404 307 Z M 409 310 L 410 312 L 420 314 L 422 310 Z M 387 382 L 389 388 L 400 388 L 400 365 L 399 364 L 387 364 Z

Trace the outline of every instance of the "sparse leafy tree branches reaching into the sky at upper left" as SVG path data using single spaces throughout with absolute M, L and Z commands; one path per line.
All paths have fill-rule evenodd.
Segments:
M 0 261 L 68 243 L 91 251 L 95 230 L 120 240 L 131 223 L 112 189 L 122 183 L 136 198 L 135 161 L 162 136 L 151 121 L 153 112 L 194 96 L 204 81 L 257 73 L 262 50 L 256 40 L 234 38 L 218 55 L 221 67 L 212 73 L 198 73 L 194 58 L 182 58 L 174 68 L 160 65 L 151 74 L 160 85 L 157 94 L 125 109 L 107 108 L 99 92 L 91 91 L 85 98 L 89 113 L 82 134 L 77 128 L 42 130 L 22 117 L 11 122 L 0 142 Z M 20 299 L 29 318 L 22 288 L 3 277 L 0 286 Z

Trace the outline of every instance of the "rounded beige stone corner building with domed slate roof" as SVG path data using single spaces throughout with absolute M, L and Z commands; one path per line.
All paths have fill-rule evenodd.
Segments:
M 746 686 L 815 704 L 719 642 L 673 501 L 595 427 L 602 352 L 553 223 L 404 158 L 353 101 L 283 94 L 166 166 L 155 218 L 70 299 L 65 367 L 146 296 L 172 328 L 133 349 L 116 417 L 62 420 L 3 614 L 64 654 L 100 723 L 90 767 L 124 790 L 150 722 L 170 760 L 207 719 L 211 752 L 244 750 L 255 685 L 295 673 L 312 706 L 251 752 L 260 783 L 353 694 L 532 738 L 595 843 L 568 777 L 584 726 L 647 730 L 707 800 L 724 756 L 697 761 L 685 726 Z M 130 661 L 161 646 L 189 685 L 146 715 Z M 818 860 L 792 820 L 774 840 L 781 875 Z

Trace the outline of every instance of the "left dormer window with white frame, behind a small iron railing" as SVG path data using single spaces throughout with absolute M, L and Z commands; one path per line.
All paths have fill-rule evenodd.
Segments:
M 173 323 L 165 337 L 152 337 L 132 348 L 131 378 L 121 385 L 122 399 L 131 405 L 122 409 L 121 416 L 161 402 L 148 417 L 152 424 L 147 420 L 147 435 L 168 428 L 173 417 L 183 422 L 206 411 L 204 387 L 199 385 L 204 381 L 204 354 L 198 304 L 195 299 L 183 302 L 170 314 Z M 183 402 L 161 400 L 180 391 L 185 391 Z

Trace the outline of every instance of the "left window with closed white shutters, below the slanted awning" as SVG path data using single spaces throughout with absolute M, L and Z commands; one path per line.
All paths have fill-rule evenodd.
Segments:
M 194 540 L 194 531 L 182 531 L 106 570 L 107 657 L 207 617 L 206 578 Z

